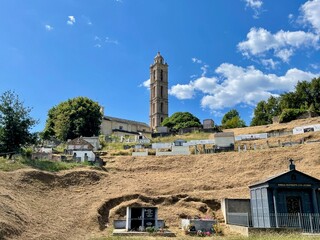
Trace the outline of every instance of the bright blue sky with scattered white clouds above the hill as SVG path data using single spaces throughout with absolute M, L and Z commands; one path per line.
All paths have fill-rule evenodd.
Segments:
M 320 0 L 0 0 L 0 94 L 44 128 L 86 96 L 105 115 L 149 123 L 149 67 L 169 64 L 169 115 L 220 124 L 237 109 L 320 76 Z

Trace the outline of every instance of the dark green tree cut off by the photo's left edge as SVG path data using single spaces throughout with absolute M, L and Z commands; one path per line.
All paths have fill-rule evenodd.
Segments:
M 6 91 L 0 96 L 0 152 L 9 153 L 9 158 L 35 141 L 30 130 L 37 121 L 30 112 L 15 92 Z

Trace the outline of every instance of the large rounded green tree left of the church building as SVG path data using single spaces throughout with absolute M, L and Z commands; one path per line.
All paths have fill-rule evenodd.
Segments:
M 80 136 L 99 135 L 102 113 L 98 103 L 86 97 L 76 97 L 48 111 L 44 139 L 56 137 L 66 141 Z

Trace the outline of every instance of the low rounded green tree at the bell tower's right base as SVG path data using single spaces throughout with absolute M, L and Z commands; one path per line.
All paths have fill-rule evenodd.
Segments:
M 161 125 L 174 131 L 182 128 L 201 127 L 200 120 L 189 112 L 176 112 L 165 118 Z

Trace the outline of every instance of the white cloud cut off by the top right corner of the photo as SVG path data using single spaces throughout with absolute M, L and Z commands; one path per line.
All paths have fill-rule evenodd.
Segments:
M 300 8 L 302 21 L 320 33 L 320 0 L 309 0 Z

